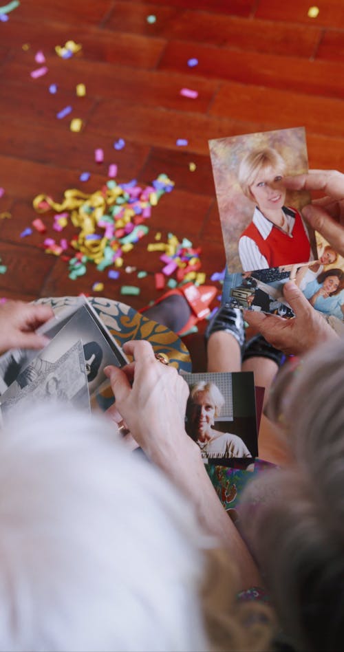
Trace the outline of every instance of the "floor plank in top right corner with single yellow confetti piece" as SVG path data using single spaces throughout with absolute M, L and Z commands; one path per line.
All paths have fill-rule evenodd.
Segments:
M 255 16 L 271 21 L 286 21 L 286 23 L 308 23 L 326 27 L 344 28 L 344 5 L 338 0 L 326 0 L 315 3 L 319 8 L 316 18 L 308 17 L 312 6 L 309 0 L 291 0 L 288 3 L 275 0 L 259 0 Z

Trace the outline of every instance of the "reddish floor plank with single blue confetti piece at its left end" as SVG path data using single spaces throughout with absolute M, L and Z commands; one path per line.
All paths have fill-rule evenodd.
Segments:
M 199 43 L 171 41 L 159 68 L 185 69 L 190 57 L 199 61 L 195 72 L 213 79 L 226 79 L 271 88 L 301 91 L 327 97 L 344 97 L 344 63 L 307 61 L 294 56 L 240 52 Z

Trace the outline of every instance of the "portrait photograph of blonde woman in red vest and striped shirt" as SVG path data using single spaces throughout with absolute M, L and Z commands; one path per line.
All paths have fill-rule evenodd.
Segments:
M 305 192 L 286 191 L 283 177 L 308 172 L 305 129 L 281 129 L 209 140 L 219 219 L 230 272 L 316 259 L 305 224 Z

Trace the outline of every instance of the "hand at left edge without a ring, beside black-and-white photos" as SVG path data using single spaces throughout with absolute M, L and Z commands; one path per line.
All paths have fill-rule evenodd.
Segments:
M 39 303 L 6 301 L 0 305 L 0 353 L 8 349 L 42 349 L 49 342 L 36 329 L 54 316 L 52 308 Z

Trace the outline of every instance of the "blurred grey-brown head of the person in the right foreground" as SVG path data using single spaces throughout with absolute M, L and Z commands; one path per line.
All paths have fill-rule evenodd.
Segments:
M 344 343 L 282 368 L 268 402 L 292 462 L 244 495 L 245 532 L 297 650 L 344 640 Z M 255 505 L 255 496 L 264 501 Z

